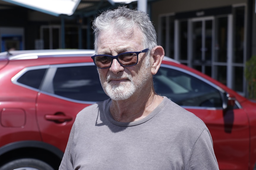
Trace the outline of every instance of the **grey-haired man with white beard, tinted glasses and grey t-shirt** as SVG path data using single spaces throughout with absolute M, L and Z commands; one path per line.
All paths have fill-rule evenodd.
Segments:
M 93 28 L 92 59 L 110 99 L 77 115 L 59 170 L 218 169 L 205 124 L 154 91 L 164 50 L 148 15 L 119 7 Z

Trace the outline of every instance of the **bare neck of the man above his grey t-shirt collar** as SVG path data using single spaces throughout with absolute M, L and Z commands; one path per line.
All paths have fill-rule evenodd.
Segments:
M 110 113 L 118 122 L 134 122 L 148 116 L 163 100 L 163 97 L 152 92 L 147 97 L 112 101 Z

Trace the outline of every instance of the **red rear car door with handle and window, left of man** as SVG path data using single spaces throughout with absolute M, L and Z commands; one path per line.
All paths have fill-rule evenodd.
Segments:
M 37 98 L 43 141 L 64 152 L 78 112 L 107 98 L 93 63 L 51 65 Z

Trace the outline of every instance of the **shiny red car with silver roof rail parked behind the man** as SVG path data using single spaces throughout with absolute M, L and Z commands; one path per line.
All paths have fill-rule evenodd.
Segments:
M 76 114 L 108 98 L 92 50 L 0 53 L 0 170 L 57 170 Z M 253 170 L 256 103 L 165 58 L 156 92 L 202 119 L 220 170 Z

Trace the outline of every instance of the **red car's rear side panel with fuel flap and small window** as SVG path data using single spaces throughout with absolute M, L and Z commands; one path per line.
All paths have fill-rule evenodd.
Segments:
M 35 103 L 46 69 L 33 67 L 33 71 L 29 68 L 20 70 L 23 63 L 19 61 L 14 62 L 14 66 L 12 62 L 10 65 L 2 69 L 0 75 L 0 146 L 17 141 L 41 140 Z

